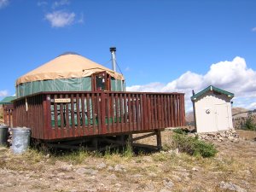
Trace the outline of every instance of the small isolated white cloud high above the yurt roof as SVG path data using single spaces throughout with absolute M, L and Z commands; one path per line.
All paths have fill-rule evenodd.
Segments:
M 66 11 L 54 11 L 45 15 L 45 19 L 49 20 L 52 27 L 64 27 L 73 24 L 75 19 L 74 13 L 68 13 Z

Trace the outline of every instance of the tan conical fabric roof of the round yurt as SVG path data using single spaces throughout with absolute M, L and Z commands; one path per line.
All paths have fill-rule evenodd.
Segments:
M 32 70 L 16 80 L 16 85 L 49 79 L 71 79 L 88 77 L 93 73 L 106 71 L 114 79 L 124 80 L 123 75 L 103 67 L 84 56 L 68 53 Z

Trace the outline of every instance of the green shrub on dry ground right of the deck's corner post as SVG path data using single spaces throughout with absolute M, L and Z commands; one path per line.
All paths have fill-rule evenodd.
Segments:
M 205 143 L 198 140 L 197 137 L 188 137 L 184 134 L 174 134 L 173 144 L 180 152 L 190 155 L 201 155 L 202 157 L 212 157 L 218 153 L 218 150 L 211 143 Z

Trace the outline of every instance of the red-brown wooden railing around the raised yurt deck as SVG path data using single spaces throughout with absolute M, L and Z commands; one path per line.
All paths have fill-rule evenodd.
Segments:
M 41 92 L 15 100 L 14 124 L 52 140 L 183 126 L 184 117 L 180 93 Z

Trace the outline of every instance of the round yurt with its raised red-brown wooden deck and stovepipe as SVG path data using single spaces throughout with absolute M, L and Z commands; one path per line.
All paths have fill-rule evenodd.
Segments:
M 14 127 L 30 128 L 32 143 L 49 148 L 135 146 L 154 135 L 160 148 L 160 131 L 184 125 L 184 94 L 126 92 L 115 50 L 113 70 L 69 52 L 17 79 Z

